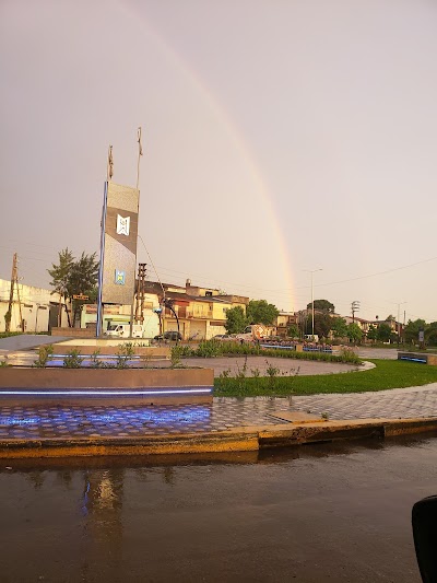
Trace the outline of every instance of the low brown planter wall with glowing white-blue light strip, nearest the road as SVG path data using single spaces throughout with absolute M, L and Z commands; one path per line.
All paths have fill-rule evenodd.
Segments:
M 0 370 L 0 407 L 212 403 L 210 369 Z

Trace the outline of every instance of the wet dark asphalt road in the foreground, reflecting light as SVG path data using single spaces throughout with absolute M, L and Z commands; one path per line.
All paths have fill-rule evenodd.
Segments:
M 420 582 L 411 508 L 437 492 L 436 456 L 409 438 L 1 460 L 0 580 Z

